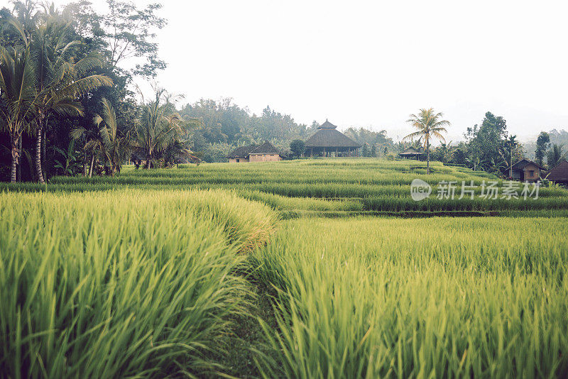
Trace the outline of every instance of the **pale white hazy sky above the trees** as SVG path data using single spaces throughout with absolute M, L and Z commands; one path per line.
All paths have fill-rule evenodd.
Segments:
M 395 139 L 430 106 L 454 141 L 486 111 L 523 138 L 568 128 L 562 1 L 160 2 L 158 81 L 187 102 L 232 97 Z

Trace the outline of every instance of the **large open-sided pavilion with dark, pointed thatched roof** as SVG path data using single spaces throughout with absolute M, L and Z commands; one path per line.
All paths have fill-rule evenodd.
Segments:
M 318 127 L 318 131 L 307 139 L 305 147 L 305 155 L 310 156 L 356 157 L 359 155 L 361 145 L 338 131 L 337 126 L 325 120 Z

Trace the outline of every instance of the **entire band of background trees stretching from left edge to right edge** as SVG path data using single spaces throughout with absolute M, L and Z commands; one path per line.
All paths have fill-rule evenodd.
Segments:
M 223 162 L 237 146 L 263 141 L 290 158 L 301 154 L 301 141 L 317 131 L 317 121 L 297 123 L 270 106 L 253 114 L 230 98 L 182 105 L 181 97 L 158 86 L 151 101 L 137 94 L 137 81 L 166 67 L 153 42 L 166 24 L 159 9 L 107 0 L 107 12 L 97 13 L 82 0 L 59 11 L 25 0 L 0 10 L 0 180 L 114 175 L 128 162 L 147 168 Z M 386 131 L 351 127 L 344 133 L 366 157 L 394 159 L 409 145 L 420 146 L 395 143 Z M 566 131 L 553 130 L 523 146 L 502 116 L 487 112 L 464 141 L 428 150 L 432 160 L 506 177 L 523 155 L 555 167 L 566 157 L 567 142 Z

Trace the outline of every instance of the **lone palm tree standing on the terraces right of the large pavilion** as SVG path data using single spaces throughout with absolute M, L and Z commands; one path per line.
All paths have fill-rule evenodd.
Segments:
M 442 113 L 435 113 L 434 109 L 420 109 L 420 112 L 415 115 L 411 114 L 408 123 L 410 123 L 414 128 L 417 129 L 414 133 L 410 133 L 408 136 L 403 138 L 403 141 L 413 141 L 414 138 L 418 138 L 418 141 L 422 141 L 426 149 L 426 173 L 430 174 L 430 139 L 433 137 L 438 138 L 440 141 L 445 142 L 443 133 L 447 133 L 444 126 L 449 126 L 450 123 L 447 120 L 442 120 Z

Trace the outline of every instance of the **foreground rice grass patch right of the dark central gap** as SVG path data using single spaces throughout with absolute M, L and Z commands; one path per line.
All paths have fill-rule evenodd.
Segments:
M 266 377 L 568 375 L 565 219 L 300 219 L 251 257 L 276 289 Z

